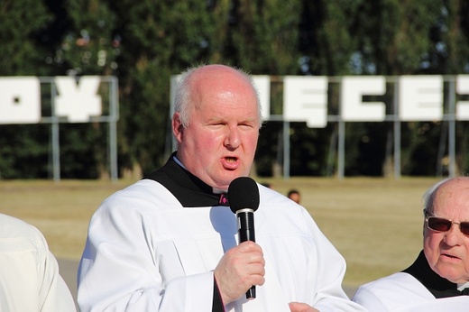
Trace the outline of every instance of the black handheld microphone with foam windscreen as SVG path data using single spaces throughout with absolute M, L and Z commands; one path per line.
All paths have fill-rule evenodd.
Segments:
M 259 207 L 259 188 L 249 177 L 234 179 L 228 187 L 231 211 L 238 220 L 239 242 L 255 242 L 254 211 Z M 246 292 L 246 298 L 255 298 L 255 286 Z

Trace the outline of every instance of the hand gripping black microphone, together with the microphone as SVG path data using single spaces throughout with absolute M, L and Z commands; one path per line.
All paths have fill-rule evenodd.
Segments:
M 253 243 L 253 213 L 259 207 L 257 184 L 247 177 L 234 179 L 228 188 L 228 200 L 237 217 L 240 244 L 227 251 L 215 269 L 216 282 L 225 304 L 239 298 L 244 292 L 246 298 L 255 298 L 253 285 L 262 285 L 265 273 L 262 249 Z

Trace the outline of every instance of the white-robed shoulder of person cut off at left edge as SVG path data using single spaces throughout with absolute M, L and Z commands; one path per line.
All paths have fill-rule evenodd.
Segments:
M 76 311 L 70 290 L 44 236 L 0 214 L 0 311 Z

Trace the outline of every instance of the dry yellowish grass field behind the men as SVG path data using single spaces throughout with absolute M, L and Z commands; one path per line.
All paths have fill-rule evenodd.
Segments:
M 422 203 L 436 178 L 258 179 L 301 204 L 347 262 L 345 285 L 405 269 L 422 245 Z M 133 180 L 0 181 L 0 212 L 37 226 L 58 258 L 78 260 L 97 206 Z

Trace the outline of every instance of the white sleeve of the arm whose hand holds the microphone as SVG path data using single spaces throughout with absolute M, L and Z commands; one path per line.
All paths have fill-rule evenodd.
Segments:
M 147 225 L 142 207 L 119 200 L 101 206 L 91 219 L 78 268 L 80 310 L 211 311 L 213 272 L 163 278 L 161 271 L 175 269 L 159 268 L 154 226 Z

